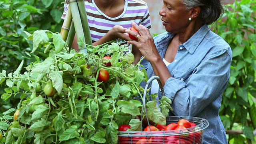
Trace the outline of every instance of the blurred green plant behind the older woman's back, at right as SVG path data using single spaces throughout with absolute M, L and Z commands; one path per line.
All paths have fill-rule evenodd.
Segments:
M 220 109 L 229 144 L 255 144 L 256 137 L 256 0 L 226 5 L 224 17 L 211 29 L 230 44 L 230 80 Z M 240 133 L 240 134 L 239 134 Z

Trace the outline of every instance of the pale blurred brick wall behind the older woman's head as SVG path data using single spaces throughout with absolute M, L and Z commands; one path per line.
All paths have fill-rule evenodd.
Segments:
M 159 15 L 159 10 L 163 6 L 162 0 L 144 0 L 148 4 L 151 25 L 150 30 L 151 34 L 160 34 L 165 31 L 164 26 L 162 25 L 161 16 Z M 222 0 L 224 4 L 233 4 L 234 0 Z

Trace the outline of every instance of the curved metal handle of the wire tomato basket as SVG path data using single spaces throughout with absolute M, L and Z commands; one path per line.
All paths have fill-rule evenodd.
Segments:
M 164 96 L 164 87 L 163 87 L 163 84 L 159 78 L 159 76 L 152 76 L 151 78 L 148 79 L 148 81 L 146 82 L 146 86 L 144 88 L 144 94 L 143 94 L 143 100 L 142 100 L 142 111 L 141 111 L 141 131 L 142 131 L 142 119 L 143 119 L 143 112 L 145 111 L 145 115 L 146 115 L 146 119 L 147 119 L 147 122 L 148 122 L 148 126 L 150 126 L 150 123 L 149 123 L 149 120 L 148 120 L 148 115 L 147 115 L 147 112 L 146 112 L 146 93 L 147 93 L 147 89 L 148 89 L 148 85 L 153 81 L 153 80 L 157 80 L 158 81 L 158 84 L 159 84 L 159 87 L 162 91 L 162 94 Z M 149 127 L 150 131 L 151 131 L 151 128 Z

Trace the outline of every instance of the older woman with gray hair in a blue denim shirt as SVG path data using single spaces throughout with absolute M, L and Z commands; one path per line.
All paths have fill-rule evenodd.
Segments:
M 172 100 L 172 115 L 205 118 L 204 144 L 227 144 L 219 116 L 222 92 L 230 77 L 230 46 L 208 27 L 224 12 L 221 0 L 163 0 L 159 14 L 167 32 L 152 38 L 142 25 L 128 34 L 138 41 L 148 77 L 159 76 L 165 95 Z M 158 84 L 152 87 L 161 98 Z M 157 89 L 156 89 L 157 88 Z

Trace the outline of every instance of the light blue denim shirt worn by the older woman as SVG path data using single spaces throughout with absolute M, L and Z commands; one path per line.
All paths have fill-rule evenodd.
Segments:
M 175 36 L 165 32 L 154 37 L 162 58 Z M 188 41 L 178 46 L 174 61 L 168 65 L 172 77 L 164 85 L 165 96 L 172 100 L 170 116 L 196 116 L 208 120 L 204 144 L 228 144 L 219 109 L 230 77 L 232 50 L 220 36 L 202 26 Z M 154 76 L 151 64 L 142 60 L 148 78 Z M 145 83 L 141 84 L 143 87 Z M 159 99 L 162 92 L 158 92 Z

